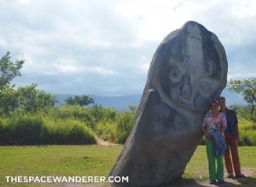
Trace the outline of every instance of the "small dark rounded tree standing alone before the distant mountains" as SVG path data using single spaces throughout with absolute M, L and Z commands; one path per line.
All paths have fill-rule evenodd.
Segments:
M 94 104 L 94 99 L 90 98 L 89 95 L 82 95 L 82 96 L 74 96 L 74 97 L 68 97 L 65 99 L 65 102 L 67 105 L 80 105 L 80 106 L 86 106 L 90 104 Z

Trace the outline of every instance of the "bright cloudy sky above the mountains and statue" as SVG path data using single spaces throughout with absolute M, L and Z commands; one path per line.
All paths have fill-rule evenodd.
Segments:
M 16 86 L 52 94 L 142 94 L 155 49 L 195 20 L 226 50 L 228 79 L 256 76 L 253 0 L 0 0 L 0 56 L 25 59 Z

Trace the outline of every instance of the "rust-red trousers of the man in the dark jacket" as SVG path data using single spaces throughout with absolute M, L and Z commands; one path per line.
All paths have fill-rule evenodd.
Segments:
M 235 170 L 236 174 L 241 173 L 240 160 L 238 155 L 238 140 L 234 138 L 232 133 L 225 133 L 225 141 L 228 149 L 224 153 L 224 161 L 225 167 L 227 169 L 227 173 L 233 173 Z M 230 157 L 230 152 L 232 156 L 232 160 Z M 233 166 L 232 166 L 233 162 Z M 233 170 L 234 167 L 234 170 Z

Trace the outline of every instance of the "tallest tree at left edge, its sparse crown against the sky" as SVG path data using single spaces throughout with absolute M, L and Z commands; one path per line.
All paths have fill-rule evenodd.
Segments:
M 0 89 L 5 85 L 9 85 L 9 83 L 17 76 L 20 75 L 20 68 L 24 64 L 25 60 L 16 60 L 13 63 L 10 60 L 10 53 L 3 55 L 0 59 Z

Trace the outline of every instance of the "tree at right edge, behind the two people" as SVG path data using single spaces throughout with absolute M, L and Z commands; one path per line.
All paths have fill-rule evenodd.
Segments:
M 242 98 L 247 102 L 247 108 L 249 109 L 250 118 L 253 122 L 254 111 L 256 105 L 256 77 L 243 79 L 243 80 L 230 80 L 228 82 L 228 88 L 231 92 L 241 94 Z

